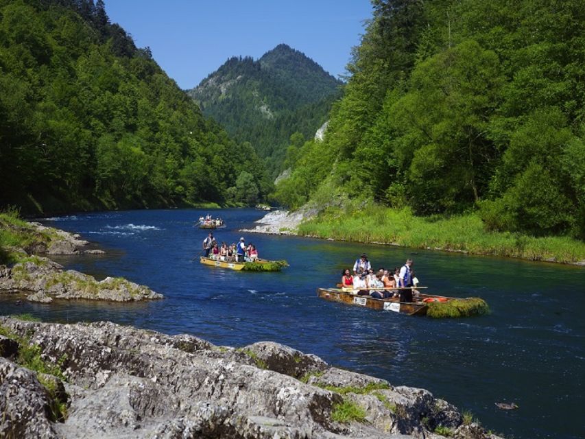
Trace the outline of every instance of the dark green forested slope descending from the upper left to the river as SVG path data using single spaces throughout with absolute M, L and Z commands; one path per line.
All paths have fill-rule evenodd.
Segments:
M 0 0 L 0 205 L 246 201 L 263 163 L 202 116 L 97 0 Z

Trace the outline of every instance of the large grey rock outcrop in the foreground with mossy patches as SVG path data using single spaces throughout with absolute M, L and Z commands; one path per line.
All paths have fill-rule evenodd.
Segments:
M 0 318 L 0 333 L 0 437 L 495 438 L 426 390 L 271 342 L 235 349 L 109 322 L 14 318 Z M 19 366 L 29 344 L 66 381 Z

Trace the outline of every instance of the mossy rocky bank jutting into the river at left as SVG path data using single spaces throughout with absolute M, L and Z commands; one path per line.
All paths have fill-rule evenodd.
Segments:
M 93 276 L 64 270 L 41 254 L 104 254 L 80 235 L 25 222 L 14 211 L 0 213 L 0 294 L 23 296 L 30 302 L 106 300 L 128 302 L 163 298 L 150 288 L 124 278 Z

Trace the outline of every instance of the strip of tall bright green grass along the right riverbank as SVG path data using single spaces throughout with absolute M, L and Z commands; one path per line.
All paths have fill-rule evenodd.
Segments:
M 411 248 L 492 254 L 533 261 L 585 261 L 585 243 L 569 237 L 492 233 L 477 215 L 416 217 L 409 209 L 370 205 L 348 212 L 332 208 L 299 226 L 299 235 Z

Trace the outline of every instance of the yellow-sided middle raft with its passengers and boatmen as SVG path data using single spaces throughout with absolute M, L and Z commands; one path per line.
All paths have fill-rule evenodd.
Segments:
M 213 233 L 203 240 L 203 254 L 200 263 L 213 267 L 229 268 L 252 272 L 277 272 L 288 267 L 287 261 L 270 261 L 258 257 L 258 249 L 254 244 L 246 245 L 246 239 L 241 237 L 237 244 L 228 246 L 225 242 L 219 246 Z

